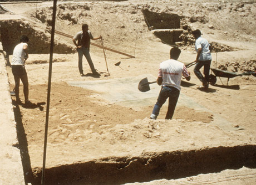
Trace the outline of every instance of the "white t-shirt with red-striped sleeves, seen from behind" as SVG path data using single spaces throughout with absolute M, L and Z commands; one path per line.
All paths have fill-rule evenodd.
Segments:
M 181 90 L 181 75 L 188 77 L 189 73 L 186 66 L 180 61 L 169 59 L 163 61 L 159 66 L 158 77 L 163 78 L 162 86 L 173 86 Z

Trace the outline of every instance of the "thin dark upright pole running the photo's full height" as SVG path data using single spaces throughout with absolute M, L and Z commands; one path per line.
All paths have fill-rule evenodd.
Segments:
M 51 80 L 52 80 L 52 56 L 53 56 L 53 47 L 54 47 L 56 7 L 57 7 L 57 0 L 54 0 L 53 1 L 53 12 L 52 12 L 52 32 L 51 32 L 51 47 L 50 47 L 46 121 L 45 121 L 46 122 L 45 123 L 45 143 L 44 143 L 44 147 L 43 147 L 43 168 L 42 168 L 42 181 L 41 181 L 42 185 L 45 185 L 46 148 L 47 148 L 48 120 L 49 120 L 49 110 L 50 110 L 50 95 L 51 95 Z

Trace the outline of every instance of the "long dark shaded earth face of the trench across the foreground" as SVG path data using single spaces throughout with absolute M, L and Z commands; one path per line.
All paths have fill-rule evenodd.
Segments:
M 224 169 L 256 167 L 256 146 L 213 147 L 190 151 L 142 153 L 140 157 L 107 157 L 46 169 L 46 184 L 124 184 L 154 179 L 177 179 Z M 41 170 L 33 169 L 33 184 Z

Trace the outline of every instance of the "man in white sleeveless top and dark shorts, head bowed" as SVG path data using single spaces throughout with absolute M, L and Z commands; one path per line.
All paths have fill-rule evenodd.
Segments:
M 21 99 L 19 99 L 19 80 L 21 79 L 23 84 L 23 93 L 25 97 L 25 105 L 31 105 L 32 103 L 28 100 L 28 76 L 25 69 L 25 61 L 28 58 L 28 37 L 22 35 L 20 43 L 16 45 L 13 49 L 12 56 L 12 74 L 14 76 L 15 87 L 14 92 L 16 96 L 17 104 L 21 104 Z

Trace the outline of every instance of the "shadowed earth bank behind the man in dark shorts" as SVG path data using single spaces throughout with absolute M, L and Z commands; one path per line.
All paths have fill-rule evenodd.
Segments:
M 29 53 L 30 54 L 48 54 L 50 53 L 51 34 L 45 31 L 45 28 L 37 28 L 32 26 L 26 20 L 12 19 L 0 21 L 0 33 L 3 50 L 7 54 L 13 53 L 14 47 L 19 43 L 22 35 L 27 35 L 29 38 Z M 72 45 L 59 42 L 55 35 L 54 53 L 67 54 L 75 53 Z

